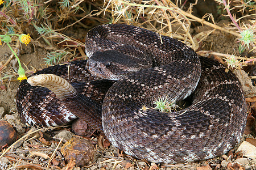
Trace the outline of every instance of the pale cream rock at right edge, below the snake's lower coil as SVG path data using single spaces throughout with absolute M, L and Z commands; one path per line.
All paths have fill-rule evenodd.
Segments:
M 242 151 L 243 156 L 251 159 L 256 158 L 256 147 L 249 142 L 243 141 L 237 151 Z

